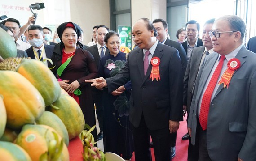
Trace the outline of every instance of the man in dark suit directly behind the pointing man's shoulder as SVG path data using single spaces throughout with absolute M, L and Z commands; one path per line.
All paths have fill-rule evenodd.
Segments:
M 187 55 L 184 50 L 184 48 L 181 46 L 181 43 L 172 41 L 168 38 L 168 23 L 164 21 L 163 19 L 154 19 L 153 21 L 154 28 L 157 30 L 157 39 L 162 44 L 168 45 L 170 47 L 174 47 L 179 51 L 179 55 L 181 58 L 181 66 L 182 66 L 182 72 L 183 76 L 185 75 L 185 71 L 187 68 Z M 171 158 L 175 157 L 176 154 L 176 138 L 177 133 L 171 134 Z M 151 144 L 151 143 L 150 143 Z

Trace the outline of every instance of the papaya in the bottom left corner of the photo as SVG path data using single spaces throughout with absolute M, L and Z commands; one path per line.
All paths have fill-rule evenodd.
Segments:
M 28 153 L 17 144 L 0 141 L 0 161 L 31 161 Z

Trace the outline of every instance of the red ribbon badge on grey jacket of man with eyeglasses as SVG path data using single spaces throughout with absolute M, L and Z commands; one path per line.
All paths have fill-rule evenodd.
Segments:
M 237 58 L 233 58 L 230 59 L 230 61 L 228 62 L 227 66 L 227 70 L 224 72 L 224 74 L 221 76 L 221 80 L 219 82 L 219 85 L 221 85 L 223 83 L 224 88 L 229 88 L 229 84 L 230 84 L 230 80 L 233 76 L 233 73 L 235 70 L 238 70 L 240 68 L 240 61 Z

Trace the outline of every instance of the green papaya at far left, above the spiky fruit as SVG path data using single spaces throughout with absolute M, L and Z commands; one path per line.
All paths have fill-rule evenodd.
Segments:
M 0 28 L 0 57 L 3 59 L 16 57 L 17 47 L 13 38 L 2 28 Z

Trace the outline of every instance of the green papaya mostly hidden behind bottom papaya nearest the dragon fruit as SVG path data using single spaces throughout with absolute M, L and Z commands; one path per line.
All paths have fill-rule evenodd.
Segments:
M 50 111 L 44 111 L 42 116 L 35 122 L 39 125 L 48 125 L 49 127 L 52 127 L 60 136 L 62 136 L 63 141 L 65 142 L 66 146 L 68 146 L 69 138 L 66 127 L 56 114 L 53 114 Z

